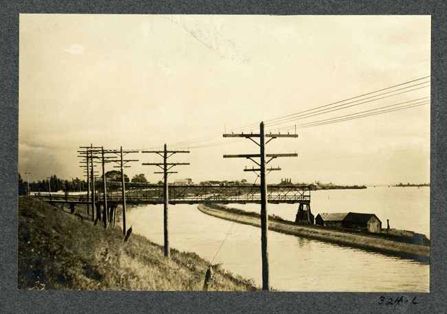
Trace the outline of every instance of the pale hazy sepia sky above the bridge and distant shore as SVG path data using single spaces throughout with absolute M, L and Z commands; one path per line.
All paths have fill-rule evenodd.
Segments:
M 189 150 L 170 181 L 430 181 L 430 16 L 21 14 L 19 172 L 82 177 L 79 146 Z M 365 95 L 367 94 L 367 95 Z M 365 96 L 362 96 L 365 95 Z M 361 96 L 361 97 L 359 97 Z M 392 111 L 391 111 L 392 110 Z M 372 114 L 374 113 L 374 114 Z M 282 117 L 285 117 L 281 119 Z M 126 174 L 162 179 L 156 154 Z M 108 164 L 106 171 L 113 170 Z

